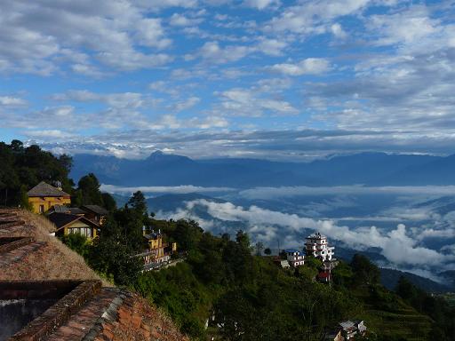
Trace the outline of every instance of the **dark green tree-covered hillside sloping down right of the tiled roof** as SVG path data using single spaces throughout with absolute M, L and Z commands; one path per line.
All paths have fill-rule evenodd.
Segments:
M 140 274 L 134 288 L 197 339 L 320 340 L 346 319 L 365 320 L 371 340 L 453 339 L 453 308 L 419 289 L 411 299 L 400 288 L 384 288 L 378 267 L 363 256 L 341 262 L 329 286 L 313 281 L 316 259 L 281 269 L 272 258 L 253 256 L 241 231 L 231 240 L 204 232 L 194 221 L 153 224 L 188 250 L 187 262 Z

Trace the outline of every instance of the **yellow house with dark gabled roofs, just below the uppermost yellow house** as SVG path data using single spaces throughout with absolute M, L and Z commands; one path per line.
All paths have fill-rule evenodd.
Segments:
M 47 218 L 57 227 L 56 235 L 81 234 L 92 240 L 100 233 L 100 226 L 84 216 L 53 212 Z

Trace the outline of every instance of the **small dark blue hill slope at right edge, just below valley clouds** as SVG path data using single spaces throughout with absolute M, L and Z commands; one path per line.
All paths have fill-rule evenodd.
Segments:
M 406 273 L 395 269 L 381 268 L 380 276 L 382 284 L 390 290 L 395 289 L 396 283 L 401 276 L 427 292 L 447 292 L 455 290 L 455 287 L 451 282 L 448 282 L 447 285 L 443 285 L 425 277 L 418 276 L 417 274 Z

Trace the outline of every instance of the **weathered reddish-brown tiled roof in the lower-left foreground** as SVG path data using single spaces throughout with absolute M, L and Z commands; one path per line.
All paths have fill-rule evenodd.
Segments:
M 0 210 L 0 340 L 188 340 L 142 297 L 103 287 L 38 218 Z

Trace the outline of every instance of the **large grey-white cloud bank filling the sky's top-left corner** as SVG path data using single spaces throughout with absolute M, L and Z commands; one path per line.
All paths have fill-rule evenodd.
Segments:
M 0 71 L 51 75 L 58 60 L 85 51 L 84 63 L 71 67 L 85 75 L 100 75 L 90 63 L 131 70 L 156 67 L 171 60 L 164 53 L 143 52 L 171 44 L 161 19 L 130 2 L 81 0 L 77 5 L 58 1 L 6 0 L 0 24 Z

